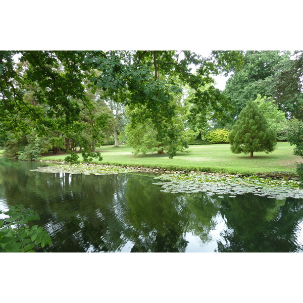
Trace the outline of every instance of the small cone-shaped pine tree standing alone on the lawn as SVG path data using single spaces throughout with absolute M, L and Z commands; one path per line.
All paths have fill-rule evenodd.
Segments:
M 249 154 L 254 157 L 254 151 L 271 153 L 276 142 L 276 133 L 270 130 L 266 119 L 254 101 L 249 101 L 239 114 L 233 129 L 229 134 L 230 149 L 234 154 Z

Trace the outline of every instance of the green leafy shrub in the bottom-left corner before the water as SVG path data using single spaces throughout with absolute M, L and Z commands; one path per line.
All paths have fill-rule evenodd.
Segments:
M 52 244 L 51 237 L 42 227 L 27 225 L 29 221 L 40 220 L 38 214 L 24 206 L 12 206 L 2 212 L 8 216 L 0 219 L 0 252 L 35 252 L 35 249 Z

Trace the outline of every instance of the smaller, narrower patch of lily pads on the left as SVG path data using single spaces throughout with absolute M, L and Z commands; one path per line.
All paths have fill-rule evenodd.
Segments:
M 43 173 L 68 173 L 82 175 L 109 175 L 129 172 L 128 168 L 87 164 L 63 164 L 58 166 L 37 167 L 32 171 Z M 132 170 L 133 171 L 133 170 Z

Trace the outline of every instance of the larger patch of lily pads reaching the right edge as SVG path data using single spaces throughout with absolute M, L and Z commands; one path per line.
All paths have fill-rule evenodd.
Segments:
M 155 179 L 162 181 L 154 184 L 161 185 L 164 192 L 206 192 L 209 196 L 216 195 L 219 198 L 223 198 L 223 195 L 236 197 L 244 193 L 281 200 L 286 197 L 303 198 L 303 189 L 299 188 L 299 182 L 295 180 L 203 174 L 163 174 Z

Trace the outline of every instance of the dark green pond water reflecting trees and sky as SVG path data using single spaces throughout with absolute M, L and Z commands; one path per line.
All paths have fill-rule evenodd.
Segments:
M 303 251 L 303 199 L 166 193 L 153 175 L 70 175 L 0 166 L 0 209 L 36 210 L 53 252 Z

